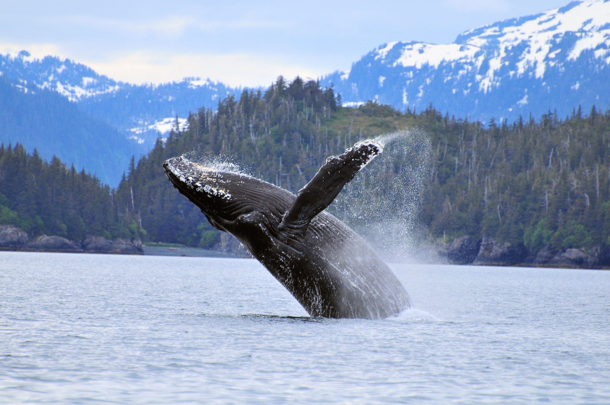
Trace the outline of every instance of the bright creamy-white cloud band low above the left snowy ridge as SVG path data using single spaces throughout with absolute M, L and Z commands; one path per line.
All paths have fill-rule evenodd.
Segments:
M 209 77 L 232 86 L 267 86 L 280 75 L 315 78 L 325 74 L 308 66 L 260 54 L 163 54 L 134 52 L 104 62 L 87 62 L 95 71 L 134 84 L 163 83 L 187 76 Z

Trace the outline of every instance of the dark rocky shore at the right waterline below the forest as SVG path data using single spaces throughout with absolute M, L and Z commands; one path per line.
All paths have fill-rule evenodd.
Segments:
M 453 264 L 490 266 L 533 266 L 569 268 L 610 268 L 610 248 L 552 249 L 529 252 L 523 245 L 500 243 L 495 238 L 456 238 L 435 245 L 439 256 Z

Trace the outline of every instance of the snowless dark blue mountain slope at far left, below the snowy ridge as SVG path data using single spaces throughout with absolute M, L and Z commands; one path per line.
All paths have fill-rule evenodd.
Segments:
M 113 186 L 132 154 L 146 151 L 56 91 L 15 85 L 1 76 L 0 142 L 5 147 L 21 143 L 27 151 L 37 149 L 46 160 L 57 156 L 68 166 L 74 164 L 78 171 L 84 168 Z

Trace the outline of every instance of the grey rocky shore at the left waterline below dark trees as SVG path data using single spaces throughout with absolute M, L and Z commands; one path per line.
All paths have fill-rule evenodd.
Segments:
M 81 242 L 60 236 L 40 235 L 30 240 L 27 233 L 11 225 L 0 225 L 0 250 L 27 252 L 144 254 L 142 241 L 88 235 Z

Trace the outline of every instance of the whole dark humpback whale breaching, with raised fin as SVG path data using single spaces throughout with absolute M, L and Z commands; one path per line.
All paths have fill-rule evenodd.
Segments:
M 324 209 L 382 150 L 365 140 L 329 157 L 296 196 L 184 156 L 163 168 L 210 224 L 234 235 L 311 316 L 380 319 L 411 306 L 406 290 L 375 249 Z

